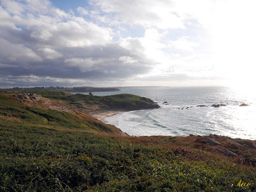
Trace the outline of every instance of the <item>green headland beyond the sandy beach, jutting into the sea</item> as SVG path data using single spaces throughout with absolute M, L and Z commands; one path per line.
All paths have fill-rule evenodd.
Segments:
M 27 91 L 6 92 L 6 94 L 22 94 Z M 84 112 L 93 112 L 99 110 L 119 109 L 119 110 L 138 110 L 158 108 L 157 104 L 151 99 L 132 94 L 119 94 L 111 96 L 90 96 L 84 94 L 70 94 L 55 91 L 33 91 L 45 98 L 57 99 L 68 105 L 76 107 Z

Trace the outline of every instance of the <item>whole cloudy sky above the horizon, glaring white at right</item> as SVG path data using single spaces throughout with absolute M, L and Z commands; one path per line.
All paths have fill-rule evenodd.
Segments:
M 252 0 L 0 0 L 0 87 L 254 86 Z

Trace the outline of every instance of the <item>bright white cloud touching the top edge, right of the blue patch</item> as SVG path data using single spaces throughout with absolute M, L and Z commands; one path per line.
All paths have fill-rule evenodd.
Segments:
M 118 0 L 91 0 L 91 5 L 121 23 L 128 23 L 132 26 L 160 29 L 185 28 L 181 18 L 170 10 L 174 6 L 172 1 L 138 0 L 131 3 Z

